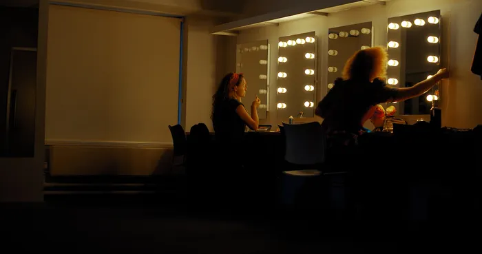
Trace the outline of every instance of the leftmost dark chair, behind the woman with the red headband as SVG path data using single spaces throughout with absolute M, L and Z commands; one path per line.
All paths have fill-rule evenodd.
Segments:
M 172 158 L 172 173 L 184 174 L 186 170 L 185 155 L 187 151 L 186 133 L 181 125 L 169 125 L 172 142 L 174 145 L 174 155 Z

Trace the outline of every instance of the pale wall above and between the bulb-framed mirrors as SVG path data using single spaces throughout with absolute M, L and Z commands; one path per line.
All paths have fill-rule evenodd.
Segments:
M 315 31 L 318 41 L 318 100 L 326 94 L 326 69 L 328 51 L 328 28 L 353 23 L 372 21 L 374 27 L 374 45 L 386 46 L 386 25 L 388 17 L 397 17 L 417 12 L 441 10 L 443 36 L 442 65 L 449 67 L 451 78 L 444 81 L 441 88 L 441 108 L 443 109 L 443 125 L 458 128 L 472 128 L 482 124 L 482 107 L 479 100 L 482 97 L 482 81 L 479 76 L 470 72 L 472 56 L 476 44 L 476 34 L 472 32 L 482 10 L 479 0 L 393 0 L 386 6 L 373 5 L 329 14 L 328 17 L 311 17 L 297 21 L 280 23 L 243 30 L 236 39 L 231 41 L 229 54 L 235 55 L 235 43 L 248 43 L 268 39 L 276 49 L 278 38 L 291 34 Z M 277 50 L 271 50 L 271 91 L 276 88 Z M 450 59 L 450 61 L 449 61 Z M 232 63 L 235 64 L 235 63 Z M 450 85 L 449 85 L 450 83 Z M 321 88 L 321 89 L 320 89 Z M 280 122 L 275 118 L 276 94 L 270 94 L 271 112 L 266 123 L 276 125 Z

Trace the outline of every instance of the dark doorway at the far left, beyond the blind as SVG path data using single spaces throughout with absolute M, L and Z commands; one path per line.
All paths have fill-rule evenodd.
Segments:
M 0 157 L 33 157 L 38 1 L 0 3 Z

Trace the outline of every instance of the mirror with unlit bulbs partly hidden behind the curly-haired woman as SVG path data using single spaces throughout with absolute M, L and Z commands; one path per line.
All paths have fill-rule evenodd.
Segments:
M 342 77 L 346 61 L 358 50 L 373 45 L 373 27 L 371 22 L 344 25 L 328 29 L 328 84 L 327 91 L 333 88 L 336 78 Z

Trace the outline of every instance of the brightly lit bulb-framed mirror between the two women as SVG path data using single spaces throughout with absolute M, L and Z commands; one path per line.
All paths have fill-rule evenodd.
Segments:
M 315 111 L 315 32 L 280 38 L 277 59 L 277 118 L 313 117 Z

